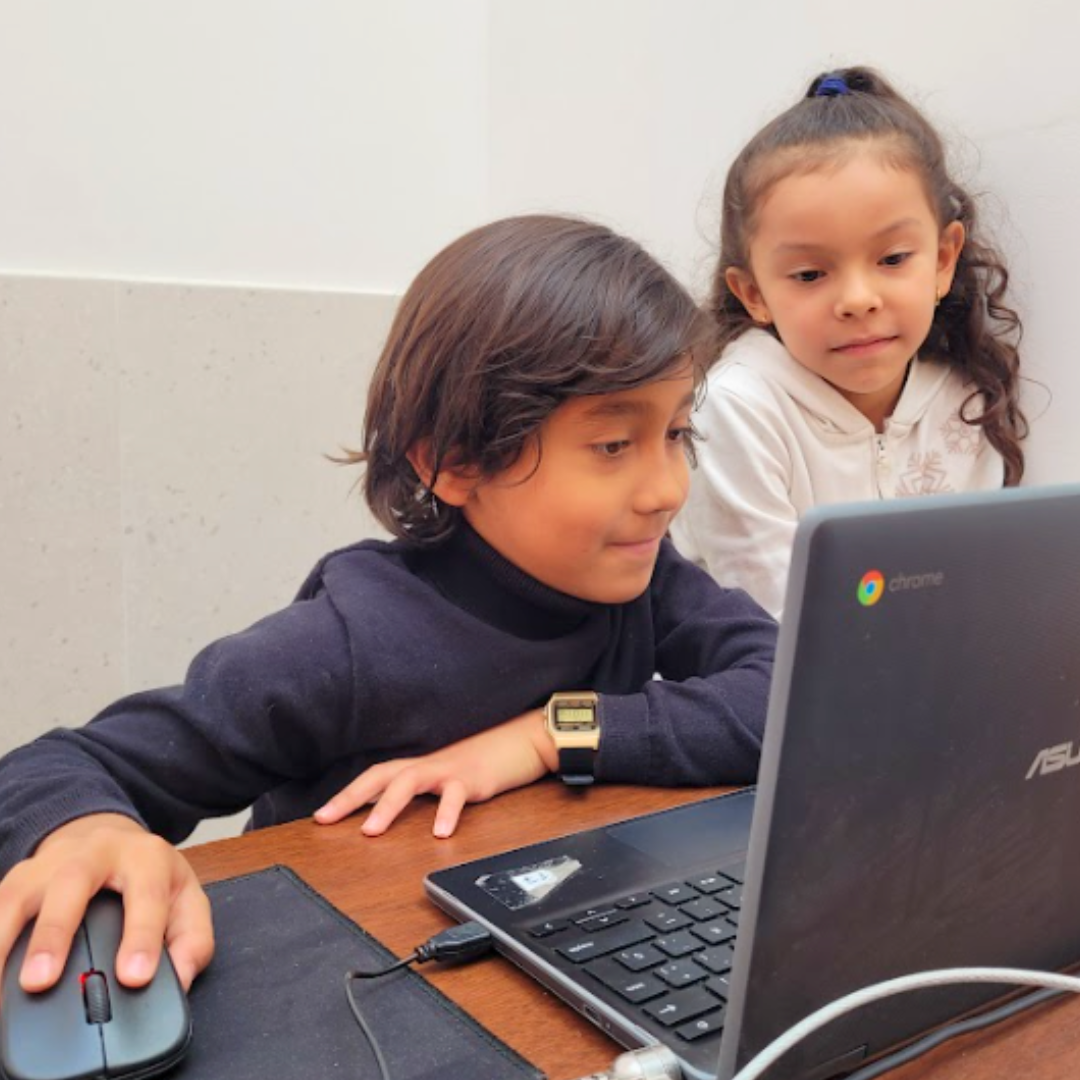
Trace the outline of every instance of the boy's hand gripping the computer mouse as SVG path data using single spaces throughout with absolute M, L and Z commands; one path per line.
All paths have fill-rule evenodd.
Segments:
M 0 881 L 0 972 L 15 939 L 37 916 L 19 983 L 28 991 L 52 986 L 86 905 L 102 889 L 123 895 L 120 981 L 148 983 L 165 942 L 189 989 L 214 955 L 210 901 L 171 843 L 122 814 L 91 814 L 63 825 Z

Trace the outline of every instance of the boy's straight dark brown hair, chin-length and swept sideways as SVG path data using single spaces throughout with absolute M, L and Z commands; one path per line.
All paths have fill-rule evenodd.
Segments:
M 460 511 L 432 494 L 448 465 L 489 478 L 563 402 L 700 372 L 714 327 L 634 241 L 554 216 L 507 218 L 456 240 L 402 298 L 372 380 L 364 495 L 392 534 L 447 537 Z M 427 449 L 432 476 L 406 455 Z

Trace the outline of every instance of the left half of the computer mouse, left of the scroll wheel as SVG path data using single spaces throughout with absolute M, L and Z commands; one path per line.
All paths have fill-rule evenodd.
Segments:
M 9 1080 L 90 1080 L 102 1076 L 102 1028 L 86 1023 L 79 978 L 90 967 L 85 935 L 76 935 L 64 974 L 41 994 L 27 994 L 18 985 L 29 941 L 27 929 L 4 968 L 0 1008 L 2 1075 Z

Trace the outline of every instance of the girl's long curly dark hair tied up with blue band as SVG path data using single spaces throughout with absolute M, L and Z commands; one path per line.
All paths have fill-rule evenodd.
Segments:
M 765 197 L 786 176 L 842 162 L 853 141 L 874 143 L 883 160 L 914 170 L 942 228 L 951 221 L 963 225 L 967 239 L 953 287 L 934 312 L 926 352 L 959 368 L 974 386 L 968 402 L 981 399 L 983 413 L 963 419 L 982 427 L 1004 459 L 1005 484 L 1018 484 L 1027 421 L 1020 406 L 1017 347 L 1023 328 L 1004 302 L 1009 271 L 981 235 L 973 198 L 949 175 L 941 136 L 872 68 L 818 76 L 806 96 L 758 132 L 732 164 L 724 189 L 720 257 L 711 300 L 718 348 L 755 325 L 728 287 L 726 274 L 732 267 L 750 270 L 750 238 Z

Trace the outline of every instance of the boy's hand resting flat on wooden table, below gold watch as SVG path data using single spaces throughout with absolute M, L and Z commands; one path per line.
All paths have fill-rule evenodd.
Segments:
M 380 836 L 417 795 L 427 793 L 440 796 L 435 836 L 449 836 L 467 802 L 483 802 L 501 792 L 524 787 L 556 765 L 543 713 L 535 708 L 433 754 L 365 769 L 315 811 L 315 821 L 330 825 L 374 801 L 375 808 L 361 829 L 368 836 Z

